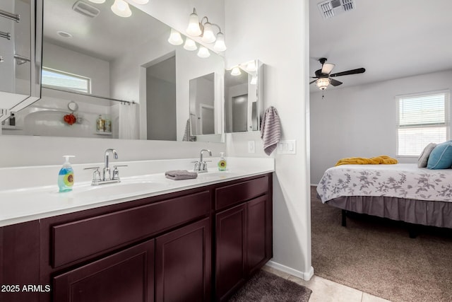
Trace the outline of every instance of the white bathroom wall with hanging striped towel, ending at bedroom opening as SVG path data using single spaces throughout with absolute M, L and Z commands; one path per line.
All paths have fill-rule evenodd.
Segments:
M 275 156 L 272 265 L 311 277 L 309 190 L 308 1 L 225 1 L 227 66 L 251 59 L 265 65 L 264 107 L 277 108 L 283 139 L 297 141 L 295 155 Z M 290 30 L 287 30 L 290 28 Z M 247 153 L 247 141 L 256 153 Z M 227 134 L 227 155 L 266 156 L 258 132 Z

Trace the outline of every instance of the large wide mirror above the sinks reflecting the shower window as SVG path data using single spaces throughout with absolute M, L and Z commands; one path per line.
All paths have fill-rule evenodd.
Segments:
M 44 0 L 42 98 L 16 112 L 15 127 L 4 125 L 2 134 L 182 141 L 188 130 L 191 140 L 219 141 L 222 127 L 206 137 L 194 132 L 190 87 L 213 75 L 221 124 L 223 57 L 171 45 L 169 26 L 131 4 L 127 18 L 111 6 Z

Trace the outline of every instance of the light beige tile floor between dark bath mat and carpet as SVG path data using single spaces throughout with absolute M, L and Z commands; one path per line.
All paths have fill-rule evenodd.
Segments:
M 311 289 L 312 294 L 309 302 L 390 302 L 319 276 L 314 275 L 311 280 L 304 281 L 272 267 L 264 266 L 263 269 Z

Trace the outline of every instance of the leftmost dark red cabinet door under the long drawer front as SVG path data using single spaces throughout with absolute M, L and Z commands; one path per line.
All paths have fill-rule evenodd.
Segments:
M 154 301 L 154 240 L 54 277 L 54 301 Z

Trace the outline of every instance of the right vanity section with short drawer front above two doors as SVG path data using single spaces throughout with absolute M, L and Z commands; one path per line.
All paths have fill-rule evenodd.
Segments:
M 273 257 L 270 187 L 266 175 L 217 189 L 222 198 L 215 214 L 215 301 L 226 301 Z

